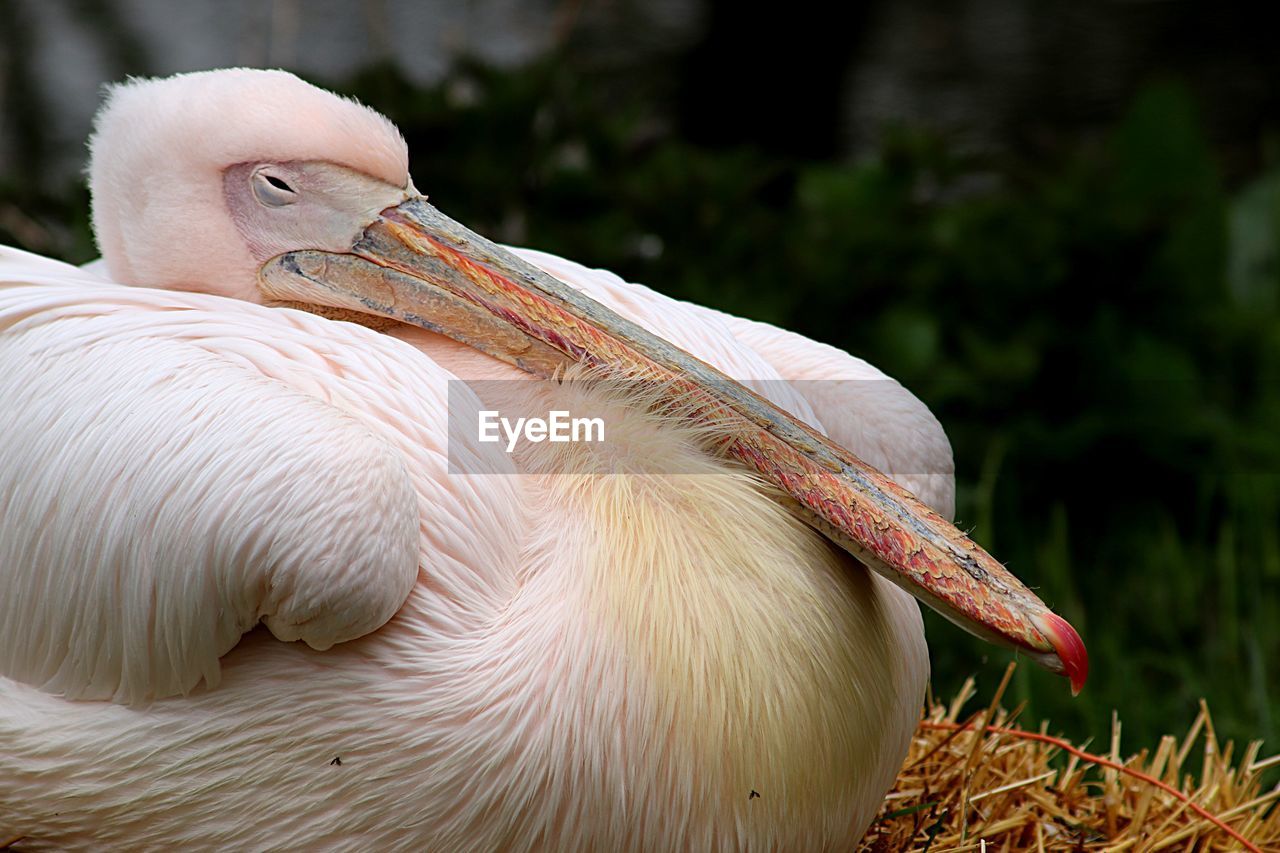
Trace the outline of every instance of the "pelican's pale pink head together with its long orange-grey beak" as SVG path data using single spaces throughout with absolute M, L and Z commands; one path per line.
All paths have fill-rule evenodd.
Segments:
M 376 113 L 284 72 L 131 81 L 91 149 L 118 280 L 388 318 L 529 373 L 582 362 L 658 387 L 649 405 L 698 419 L 713 450 L 868 567 L 1083 685 L 1079 635 L 1000 562 L 796 418 L 438 211 Z

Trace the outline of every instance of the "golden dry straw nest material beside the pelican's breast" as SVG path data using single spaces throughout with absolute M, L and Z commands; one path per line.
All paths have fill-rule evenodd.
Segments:
M 1096 754 L 1051 736 L 1047 724 L 1016 725 L 1018 711 L 1000 707 L 1012 671 L 965 720 L 972 679 L 950 706 L 929 703 L 860 850 L 1280 852 L 1280 785 L 1262 790 L 1280 756 L 1260 758 L 1261 740 L 1236 757 L 1234 744 L 1219 743 L 1201 702 L 1181 740 L 1167 735 L 1153 754 L 1121 758 L 1114 717 L 1108 749 Z M 1197 744 L 1198 779 L 1187 772 Z

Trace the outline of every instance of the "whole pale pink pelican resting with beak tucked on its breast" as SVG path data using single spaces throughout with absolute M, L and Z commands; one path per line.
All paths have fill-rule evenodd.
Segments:
M 101 261 L 0 250 L 0 844 L 850 849 L 911 596 L 1083 683 L 865 362 L 497 246 L 284 72 L 90 159 Z M 607 446 L 466 426 L 547 406 Z

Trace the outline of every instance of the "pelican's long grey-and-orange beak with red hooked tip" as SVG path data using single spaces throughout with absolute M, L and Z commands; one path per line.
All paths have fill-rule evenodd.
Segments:
M 717 450 L 759 473 L 800 519 L 943 616 L 1066 675 L 1088 674 L 1079 634 L 964 533 L 878 470 L 710 365 L 650 334 L 412 197 L 351 254 L 297 251 L 260 270 L 269 298 L 411 323 L 550 377 L 577 361 L 662 388 Z

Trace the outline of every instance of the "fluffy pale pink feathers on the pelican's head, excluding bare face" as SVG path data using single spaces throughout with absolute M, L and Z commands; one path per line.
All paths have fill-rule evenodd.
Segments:
M 394 124 L 287 72 L 196 72 L 110 87 L 88 174 L 111 277 L 259 301 L 256 264 L 228 215 L 221 174 L 238 163 L 289 160 L 410 182 Z

